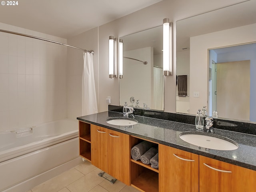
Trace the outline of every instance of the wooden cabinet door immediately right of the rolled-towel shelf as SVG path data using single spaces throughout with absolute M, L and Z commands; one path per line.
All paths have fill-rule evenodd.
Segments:
M 159 144 L 160 192 L 198 192 L 199 156 Z

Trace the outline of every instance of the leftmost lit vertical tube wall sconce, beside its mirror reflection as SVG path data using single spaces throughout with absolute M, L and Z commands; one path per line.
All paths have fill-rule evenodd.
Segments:
M 116 38 L 114 36 L 109 36 L 108 42 L 108 75 L 109 78 L 117 77 L 116 69 Z

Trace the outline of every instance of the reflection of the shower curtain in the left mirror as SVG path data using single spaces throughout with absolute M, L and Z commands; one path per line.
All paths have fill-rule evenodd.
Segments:
M 153 109 L 164 110 L 164 76 L 163 69 L 154 67 L 154 107 Z

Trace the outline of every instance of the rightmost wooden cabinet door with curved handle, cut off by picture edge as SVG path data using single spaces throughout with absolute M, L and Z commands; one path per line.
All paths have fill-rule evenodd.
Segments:
M 199 157 L 200 192 L 255 191 L 256 171 L 233 164 Z

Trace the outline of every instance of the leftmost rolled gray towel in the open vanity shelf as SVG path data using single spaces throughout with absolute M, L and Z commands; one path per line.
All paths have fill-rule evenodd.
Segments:
M 147 151 L 149 150 L 154 143 L 148 142 L 148 141 L 142 141 L 139 144 L 135 145 L 131 149 L 131 155 L 133 160 L 139 160 L 140 157 Z

